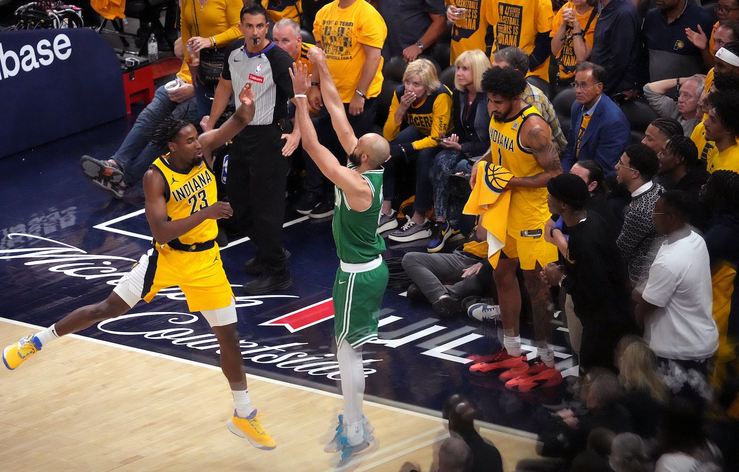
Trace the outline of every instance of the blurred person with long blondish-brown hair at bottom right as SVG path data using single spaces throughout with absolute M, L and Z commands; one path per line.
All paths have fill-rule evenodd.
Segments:
M 624 406 L 633 417 L 634 432 L 653 438 L 664 406 L 670 400 L 667 385 L 657 370 L 657 356 L 644 340 L 636 338 L 623 347 L 617 361 L 619 380 L 626 391 Z

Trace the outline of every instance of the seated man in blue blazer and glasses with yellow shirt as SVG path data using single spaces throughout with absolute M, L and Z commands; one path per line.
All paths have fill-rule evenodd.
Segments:
M 575 103 L 562 171 L 569 172 L 574 163 L 586 159 L 612 171 L 631 143 L 631 127 L 624 112 L 603 94 L 605 79 L 605 69 L 592 62 L 581 62 L 575 69 Z

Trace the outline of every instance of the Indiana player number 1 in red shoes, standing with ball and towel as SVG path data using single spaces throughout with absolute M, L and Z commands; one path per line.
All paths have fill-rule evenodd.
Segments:
M 511 192 L 507 236 L 500 261 L 493 271 L 503 320 L 503 350 L 470 367 L 478 375 L 500 375 L 514 391 L 531 391 L 562 383 L 554 369 L 554 352 L 547 309 L 548 289 L 540 278 L 542 267 L 557 260 L 554 244 L 544 240 L 544 226 L 551 216 L 546 185 L 562 173 L 556 148 L 551 142 L 547 122 L 534 106 L 520 99 L 526 86 L 522 72 L 506 67 L 491 67 L 483 74 L 483 92 L 488 96 L 490 151 L 483 156 L 489 163 L 502 165 L 513 178 L 503 191 Z M 472 168 L 471 185 L 477 178 Z M 504 217 L 502 215 L 502 217 Z M 521 353 L 519 318 L 521 292 L 516 271 L 521 267 L 534 312 L 534 339 L 538 357 L 526 361 Z

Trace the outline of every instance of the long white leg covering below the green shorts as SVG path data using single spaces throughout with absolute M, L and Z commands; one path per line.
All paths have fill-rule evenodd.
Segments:
M 344 434 L 350 445 L 358 445 L 364 437 L 362 400 L 364 398 L 364 363 L 361 350 L 344 341 L 336 353 L 341 372 L 341 393 L 344 395 Z

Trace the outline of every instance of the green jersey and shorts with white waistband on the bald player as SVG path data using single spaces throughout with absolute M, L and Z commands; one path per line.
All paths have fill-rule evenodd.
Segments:
M 354 168 L 349 165 L 349 168 Z M 352 347 L 377 339 L 378 318 L 389 273 L 382 259 L 385 242 L 378 234 L 383 169 L 361 174 L 372 188 L 372 205 L 356 211 L 338 186 L 334 190 L 333 239 L 341 264 L 333 283 L 336 346 Z

